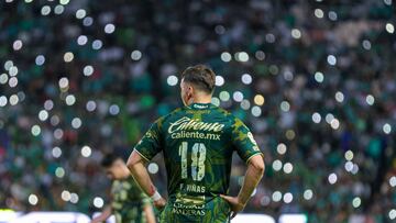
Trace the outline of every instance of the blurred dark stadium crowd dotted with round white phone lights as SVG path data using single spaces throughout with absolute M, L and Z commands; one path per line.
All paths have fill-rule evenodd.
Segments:
M 392 0 L 0 2 L 0 208 L 99 211 L 128 157 L 207 64 L 266 171 L 245 212 L 396 219 Z M 161 157 L 148 167 L 165 193 Z M 235 157 L 231 192 L 244 165 Z

